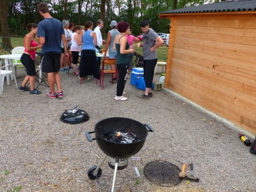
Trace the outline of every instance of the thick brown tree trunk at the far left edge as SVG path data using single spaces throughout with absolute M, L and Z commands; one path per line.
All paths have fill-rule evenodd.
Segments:
M 9 0 L 0 1 L 0 25 L 2 32 L 2 48 L 12 49 L 11 39 L 8 30 L 8 5 Z

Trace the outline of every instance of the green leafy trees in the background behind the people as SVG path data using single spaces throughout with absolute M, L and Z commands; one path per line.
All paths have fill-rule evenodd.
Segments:
M 178 8 L 201 5 L 204 3 L 215 2 L 218 0 L 179 0 Z M 37 11 L 37 5 L 41 2 L 48 4 L 50 14 L 59 19 L 68 19 L 75 25 L 84 25 L 87 20 L 94 23 L 100 18 L 101 0 L 86 1 L 53 1 L 53 0 L 13 0 L 9 1 L 8 27 L 10 31 L 15 31 L 19 37 L 24 36 L 24 30 L 28 23 L 39 23 L 42 17 Z M 57 3 L 59 2 L 59 3 Z M 67 12 L 64 12 L 64 4 L 67 3 Z M 81 13 L 78 15 L 78 5 L 81 3 Z M 104 29 L 102 32 L 106 36 L 110 30 L 110 22 L 115 19 L 117 22 L 125 20 L 132 27 L 134 35 L 141 34 L 139 23 L 142 19 L 150 20 L 150 26 L 156 32 L 169 33 L 169 19 L 160 19 L 159 13 L 162 11 L 173 10 L 174 0 L 108 0 L 105 5 Z M 67 16 L 65 16 L 67 15 Z M 67 17 L 67 18 L 64 18 Z M 79 19 L 80 18 L 80 22 Z M 102 18 L 103 19 L 103 18 Z M 79 22 L 79 23 L 78 23 Z M 26 34 L 26 33 L 25 33 Z M 104 36 L 103 35 L 103 36 Z

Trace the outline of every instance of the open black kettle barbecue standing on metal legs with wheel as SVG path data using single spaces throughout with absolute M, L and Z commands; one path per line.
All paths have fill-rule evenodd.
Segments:
M 110 135 L 116 132 L 131 133 L 136 136 L 136 140 L 131 143 L 117 143 L 105 138 L 105 135 Z M 142 123 L 129 118 L 113 117 L 99 121 L 95 125 L 94 131 L 86 132 L 86 137 L 90 142 L 96 140 L 98 146 L 106 155 L 97 166 L 92 166 L 88 170 L 88 177 L 92 180 L 98 179 L 102 174 L 100 167 L 106 158 L 108 156 L 112 159 L 114 158 L 115 166 L 111 166 L 109 163 L 110 167 L 114 167 L 114 177 L 111 190 L 113 192 L 119 162 L 125 161 L 141 150 L 148 132 L 154 132 L 154 129 L 150 125 L 147 123 L 143 125 Z M 90 136 L 90 134 L 93 133 L 95 133 L 95 138 Z M 122 167 L 125 168 L 126 166 L 122 164 Z

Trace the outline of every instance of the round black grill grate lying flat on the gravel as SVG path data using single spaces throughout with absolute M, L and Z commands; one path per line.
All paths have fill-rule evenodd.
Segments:
M 144 175 L 151 182 L 161 186 L 174 186 L 181 182 L 180 168 L 167 161 L 152 161 L 144 167 Z

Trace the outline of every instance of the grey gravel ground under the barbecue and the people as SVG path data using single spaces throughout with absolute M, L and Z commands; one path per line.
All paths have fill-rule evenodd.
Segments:
M 230 129 L 215 118 L 170 94 L 154 91 L 149 100 L 127 81 L 126 101 L 114 100 L 116 84 L 105 79 L 104 90 L 95 81 L 61 73 L 62 99 L 46 97 L 49 88 L 40 86 L 41 95 L 29 95 L 10 86 L 0 94 L 0 191 L 100 191 L 87 171 L 104 157 L 96 141 L 84 133 L 109 117 L 127 117 L 154 127 L 148 133 L 136 165 L 142 183 L 136 180 L 134 167 L 118 170 L 116 191 L 256 191 L 255 155 Z M 17 82 L 25 76 L 17 69 Z M 155 76 L 155 79 L 159 74 Z M 67 124 L 59 120 L 66 109 L 78 105 L 90 120 Z M 253 141 L 252 138 L 250 138 Z M 182 168 L 194 163 L 200 182 L 182 180 L 176 186 L 160 186 L 147 180 L 143 167 L 151 161 L 167 161 Z M 110 191 L 113 169 L 103 163 L 100 185 Z M 189 166 L 186 169 L 189 175 Z

